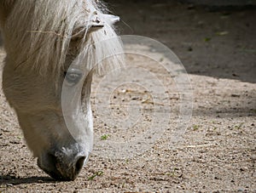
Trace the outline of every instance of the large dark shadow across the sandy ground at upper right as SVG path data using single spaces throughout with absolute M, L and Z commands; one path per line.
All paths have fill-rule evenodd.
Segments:
M 152 37 L 190 74 L 256 82 L 255 7 L 215 9 L 177 1 L 110 0 L 121 34 Z

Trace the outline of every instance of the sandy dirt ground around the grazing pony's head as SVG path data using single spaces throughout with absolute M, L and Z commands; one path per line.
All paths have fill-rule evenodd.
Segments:
M 182 100 L 172 77 L 167 77 L 154 61 L 130 55 L 129 64 L 143 66 L 166 82 L 164 99 L 172 106 L 173 113 L 170 122 L 162 122 L 164 134 L 150 142 L 147 150 L 125 159 L 120 159 L 119 152 L 115 152 L 118 159 L 102 156 L 101 146 L 96 144 L 95 153 L 78 179 L 56 182 L 38 168 L 26 147 L 15 113 L 1 91 L 0 192 L 255 192 L 255 9 L 212 11 L 152 0 L 120 0 L 109 4 L 122 19 L 121 34 L 151 37 L 164 43 L 172 48 L 189 73 L 194 95 L 193 115 L 183 139 L 172 144 L 178 104 Z M 139 45 L 132 48 L 152 52 Z M 2 48 L 1 61 L 4 55 Z M 159 63 L 165 62 L 161 57 Z M 135 82 L 137 78 L 136 85 L 143 85 L 143 79 L 148 78 L 133 71 L 128 71 L 126 76 Z M 119 125 L 113 127 L 104 122 L 96 111 L 96 102 L 103 103 L 96 99 L 99 82 L 101 78 L 95 77 L 92 88 L 96 143 L 102 142 L 99 136 L 104 133 L 106 141 L 130 139 L 134 133 L 143 133 L 134 129 L 115 133 L 113 130 L 119 131 Z M 112 102 L 119 105 L 113 109 L 122 118 L 125 111 L 121 107 L 126 102 L 134 100 L 143 104 L 143 110 L 147 110 L 143 111 L 143 117 L 149 118 L 137 127 L 147 129 L 148 111 L 160 104 L 152 103 L 150 96 L 144 100 L 148 90 L 136 85 L 123 85 L 113 91 Z M 150 85 L 150 89 L 158 86 Z M 164 116 L 169 112 L 160 108 L 160 113 Z

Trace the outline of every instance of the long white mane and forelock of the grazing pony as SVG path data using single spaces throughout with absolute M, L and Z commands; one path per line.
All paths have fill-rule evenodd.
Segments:
M 5 49 L 15 69 L 38 71 L 43 76 L 53 72 L 53 76 L 57 76 L 64 69 L 67 55 L 72 55 L 76 62 L 84 62 L 86 69 L 95 68 L 98 73 L 122 65 L 122 56 L 117 55 L 122 53 L 122 44 L 113 38 L 116 33 L 111 20 L 102 14 L 104 10 L 96 2 L 16 1 L 3 26 Z M 91 32 L 95 15 L 104 22 L 104 27 Z M 104 41 L 110 38 L 113 39 Z M 91 46 L 93 43 L 96 44 Z M 102 59 L 111 55 L 115 57 L 102 65 Z

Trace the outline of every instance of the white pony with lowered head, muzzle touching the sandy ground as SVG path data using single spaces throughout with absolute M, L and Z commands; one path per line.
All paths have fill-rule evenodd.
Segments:
M 38 166 L 54 179 L 75 179 L 92 150 L 93 72 L 123 64 L 118 55 L 122 44 L 113 38 L 117 37 L 113 23 L 119 18 L 103 12 L 106 9 L 97 0 L 0 1 L 7 53 L 3 92 Z M 113 57 L 103 64 L 109 55 Z M 70 66 L 74 61 L 76 65 Z M 70 110 L 76 113 L 68 116 L 73 127 L 83 131 L 79 136 L 69 132 L 63 116 L 63 84 L 70 90 L 82 85 L 81 101 Z

